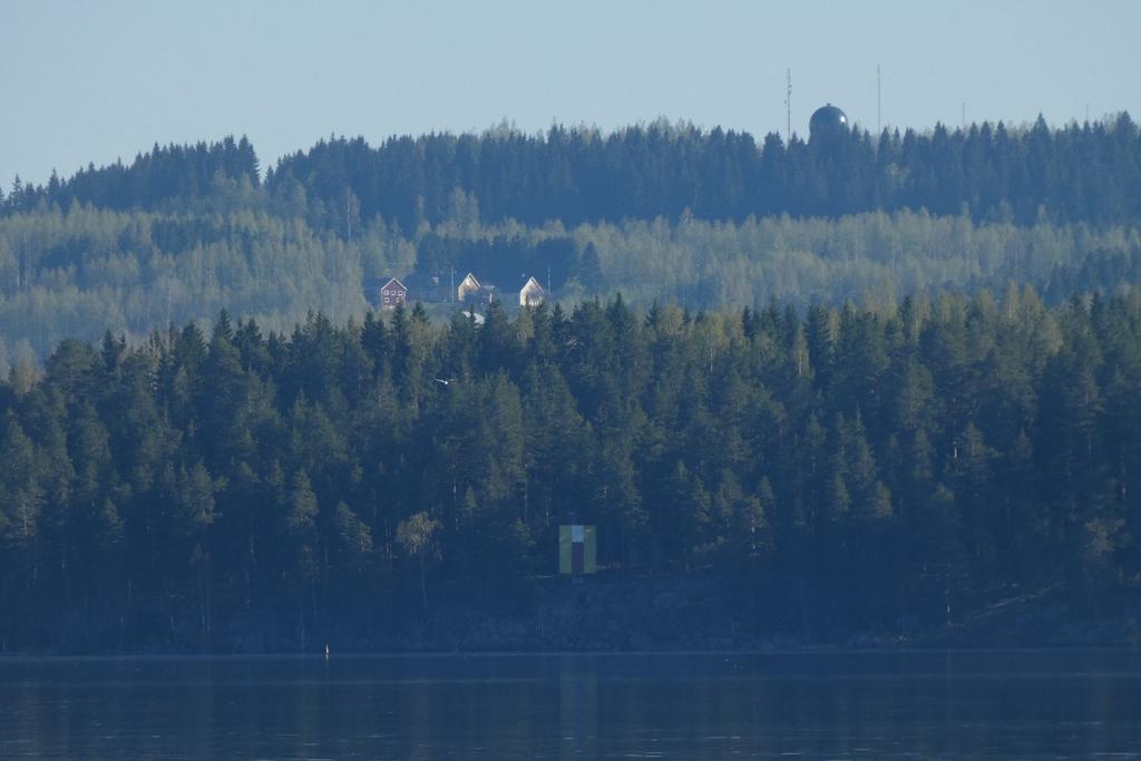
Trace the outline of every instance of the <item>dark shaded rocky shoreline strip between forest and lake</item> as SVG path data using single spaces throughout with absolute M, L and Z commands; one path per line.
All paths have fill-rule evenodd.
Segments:
M 962 620 L 949 625 L 899 616 L 891 625 L 864 626 L 815 609 L 804 614 L 786 597 L 717 574 L 564 581 L 542 580 L 497 596 L 440 586 L 428 610 L 398 598 L 381 609 L 388 615 L 329 610 L 304 639 L 296 622 L 265 609 L 219 623 L 210 638 L 180 632 L 183 638 L 132 641 L 121 630 L 76 626 L 55 631 L 42 647 L 29 649 L 25 641 L 0 657 L 322 656 L 326 643 L 333 657 L 1141 647 L 1141 594 L 1123 597 L 1112 615 L 1097 616 L 1071 610 L 1057 588 L 1043 588 L 962 609 Z

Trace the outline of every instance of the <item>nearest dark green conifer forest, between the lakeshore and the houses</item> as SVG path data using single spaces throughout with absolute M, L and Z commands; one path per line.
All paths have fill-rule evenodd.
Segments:
M 713 568 L 758 625 L 961 621 L 1141 583 L 1141 296 L 60 343 L 0 386 L 0 642 L 294 645 L 511 594 L 556 529 L 613 573 Z

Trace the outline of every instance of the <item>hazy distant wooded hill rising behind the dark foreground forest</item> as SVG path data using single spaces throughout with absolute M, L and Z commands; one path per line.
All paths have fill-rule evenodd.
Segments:
M 221 309 L 278 331 L 311 309 L 359 319 L 366 283 L 414 270 L 690 309 L 1114 292 L 1141 282 L 1139 146 L 1125 114 L 787 145 L 499 128 L 330 138 L 265 180 L 245 138 L 154 146 L 0 195 L 0 374 L 64 338 L 137 342 Z

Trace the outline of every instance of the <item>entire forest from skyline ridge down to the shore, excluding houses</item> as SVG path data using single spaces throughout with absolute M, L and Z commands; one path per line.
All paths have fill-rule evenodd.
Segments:
M 332 136 L 264 173 L 227 137 L 16 178 L 0 651 L 378 641 L 533 602 L 572 519 L 604 576 L 723 580 L 800 642 L 1047 592 L 1120 616 L 1139 204 L 1127 114 Z M 468 270 L 552 298 L 371 310 Z

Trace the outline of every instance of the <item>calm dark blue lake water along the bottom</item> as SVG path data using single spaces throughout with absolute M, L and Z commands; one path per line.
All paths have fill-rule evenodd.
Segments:
M 0 759 L 1141 759 L 1141 653 L 0 658 Z

